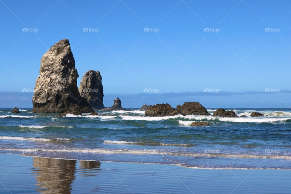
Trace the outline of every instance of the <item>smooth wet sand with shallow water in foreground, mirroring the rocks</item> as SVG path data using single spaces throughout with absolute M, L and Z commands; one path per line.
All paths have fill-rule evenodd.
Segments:
M 0 154 L 0 193 L 290 193 L 289 170 L 188 169 Z

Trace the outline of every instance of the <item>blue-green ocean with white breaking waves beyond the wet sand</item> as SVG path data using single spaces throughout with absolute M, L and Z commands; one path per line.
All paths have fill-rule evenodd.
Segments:
M 61 159 L 174 164 L 205 169 L 291 169 L 290 109 L 233 109 L 247 117 L 146 117 L 144 111 L 101 116 L 0 110 L 0 152 Z M 213 113 L 215 109 L 208 109 Z M 209 126 L 190 127 L 208 121 Z

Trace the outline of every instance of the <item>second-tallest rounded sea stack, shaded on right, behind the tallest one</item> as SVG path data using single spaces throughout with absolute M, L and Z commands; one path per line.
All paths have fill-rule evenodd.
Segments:
M 95 109 L 104 109 L 102 77 L 99 71 L 89 70 L 81 79 L 79 92 Z

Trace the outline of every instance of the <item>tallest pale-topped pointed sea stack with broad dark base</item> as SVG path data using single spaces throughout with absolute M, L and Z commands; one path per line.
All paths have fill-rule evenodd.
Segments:
M 32 97 L 32 112 L 94 112 L 80 96 L 79 77 L 68 39 L 55 43 L 41 59 L 39 76 Z

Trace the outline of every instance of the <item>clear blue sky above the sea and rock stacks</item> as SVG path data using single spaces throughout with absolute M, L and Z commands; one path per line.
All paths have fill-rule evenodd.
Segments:
M 32 96 L 22 89 L 34 88 L 42 55 L 63 38 L 72 46 L 78 84 L 87 70 L 101 72 L 107 106 L 122 96 L 125 107 L 291 107 L 288 0 L 1 0 L 0 11 L 0 100 L 3 92 L 20 92 L 2 97 L 2 107 Z M 30 107 L 29 98 L 18 106 Z

